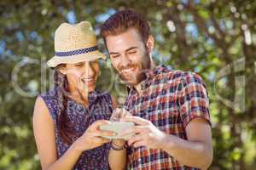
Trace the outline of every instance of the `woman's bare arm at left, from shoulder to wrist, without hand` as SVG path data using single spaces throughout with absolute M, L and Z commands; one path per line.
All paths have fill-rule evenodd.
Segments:
M 38 154 L 43 170 L 50 169 L 72 169 L 78 161 L 81 151 L 77 149 L 76 143 L 57 160 L 55 144 L 55 124 L 49 115 L 49 110 L 41 97 L 36 100 L 33 113 L 33 131 L 38 147 Z

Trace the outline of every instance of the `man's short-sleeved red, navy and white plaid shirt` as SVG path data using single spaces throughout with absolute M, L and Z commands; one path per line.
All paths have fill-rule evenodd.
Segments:
M 187 139 L 185 127 L 195 117 L 210 122 L 207 90 L 200 76 L 192 72 L 172 71 L 160 65 L 147 72 L 141 94 L 135 88 L 125 101 L 125 109 L 133 116 L 149 120 L 161 131 Z M 186 167 L 163 150 L 147 147 L 127 150 L 128 169 L 197 169 Z

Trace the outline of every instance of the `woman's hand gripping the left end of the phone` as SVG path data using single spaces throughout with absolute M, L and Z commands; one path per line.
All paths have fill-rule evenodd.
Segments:
M 84 134 L 75 141 L 76 148 L 79 151 L 91 150 L 102 144 L 110 142 L 109 139 L 104 139 L 102 136 L 115 136 L 116 134 L 110 131 L 100 130 L 101 125 L 109 124 L 106 120 L 100 120 L 92 123 Z

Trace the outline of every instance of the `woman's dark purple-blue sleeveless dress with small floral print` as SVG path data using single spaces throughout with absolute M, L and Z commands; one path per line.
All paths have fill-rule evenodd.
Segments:
M 54 88 L 44 94 L 40 94 L 49 109 L 50 116 L 55 122 L 55 144 L 57 146 L 57 156 L 60 158 L 69 148 L 69 144 L 63 143 L 60 134 L 57 131 L 56 119 L 60 114 L 58 105 L 57 88 Z M 67 116 L 70 122 L 74 124 L 73 130 L 78 134 L 74 139 L 78 139 L 85 130 L 97 120 L 109 120 L 113 111 L 111 96 L 99 90 L 89 94 L 90 105 L 87 108 L 84 105 L 76 103 L 73 99 L 67 99 Z M 73 167 L 75 170 L 105 170 L 109 169 L 108 151 L 109 144 L 103 144 L 92 150 L 85 150 L 79 157 L 79 160 Z

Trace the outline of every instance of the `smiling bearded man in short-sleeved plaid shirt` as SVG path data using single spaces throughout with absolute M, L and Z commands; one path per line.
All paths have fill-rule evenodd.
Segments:
M 112 169 L 207 169 L 212 134 L 207 90 L 192 72 L 154 66 L 148 22 L 133 10 L 113 14 L 101 29 L 113 67 L 129 88 L 122 121 L 136 126 L 128 147 L 113 141 Z M 127 158 L 127 159 L 126 159 Z

